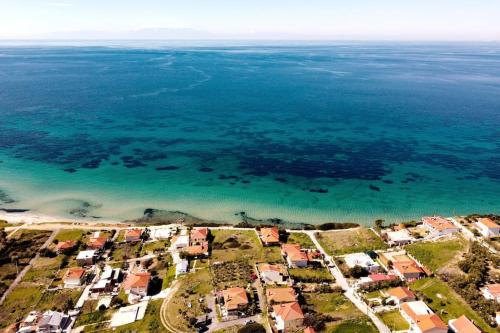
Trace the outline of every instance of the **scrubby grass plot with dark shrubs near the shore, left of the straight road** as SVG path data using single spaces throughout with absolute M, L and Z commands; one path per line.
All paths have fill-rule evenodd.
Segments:
M 212 261 L 282 262 L 278 246 L 263 247 L 253 230 L 213 230 Z

